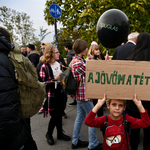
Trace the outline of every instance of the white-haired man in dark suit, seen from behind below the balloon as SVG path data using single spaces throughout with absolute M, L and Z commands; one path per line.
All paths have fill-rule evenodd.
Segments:
M 137 32 L 129 34 L 128 41 L 115 49 L 112 60 L 127 60 L 136 45 L 138 35 Z

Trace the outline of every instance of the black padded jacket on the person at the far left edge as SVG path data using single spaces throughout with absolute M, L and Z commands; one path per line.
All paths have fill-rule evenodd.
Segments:
M 16 150 L 26 141 L 26 131 L 18 110 L 14 67 L 7 57 L 10 51 L 10 43 L 0 33 L 0 147 Z

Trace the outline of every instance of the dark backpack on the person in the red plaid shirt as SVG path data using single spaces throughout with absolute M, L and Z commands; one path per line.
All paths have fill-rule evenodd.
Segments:
M 75 59 L 72 63 L 71 66 L 74 62 L 78 61 L 77 59 Z M 63 65 L 62 65 L 63 66 Z M 79 83 L 77 80 L 74 79 L 73 74 L 71 72 L 71 68 L 70 67 L 65 67 L 67 68 L 62 74 L 60 74 L 60 78 L 62 80 L 62 89 L 69 95 L 75 95 L 76 92 L 78 91 L 78 87 L 79 87 Z

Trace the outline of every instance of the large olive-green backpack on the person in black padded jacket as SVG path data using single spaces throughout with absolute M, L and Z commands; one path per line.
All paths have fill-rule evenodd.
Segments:
M 29 118 L 42 106 L 46 97 L 45 85 L 38 81 L 36 68 L 27 57 L 21 55 L 19 48 L 10 52 L 8 58 L 15 67 L 20 116 Z

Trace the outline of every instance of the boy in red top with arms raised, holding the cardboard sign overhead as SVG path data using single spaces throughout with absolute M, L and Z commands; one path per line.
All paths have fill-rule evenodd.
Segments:
M 147 128 L 148 126 L 150 126 L 150 119 L 148 117 L 147 110 L 144 109 L 141 101 L 137 100 L 136 95 L 134 95 L 133 102 L 137 106 L 142 119 L 133 118 L 128 114 L 126 114 L 124 119 L 122 113 L 126 108 L 125 100 L 115 99 L 109 100 L 107 102 L 107 107 L 110 110 L 110 115 L 108 115 L 107 117 L 95 117 L 96 113 L 105 103 L 105 101 L 106 94 L 104 95 L 103 99 L 98 100 L 98 103 L 88 114 L 85 119 L 85 124 L 90 127 L 98 127 L 103 131 L 103 127 L 106 126 L 103 140 L 103 149 L 131 150 L 129 143 L 129 134 L 126 131 L 126 123 L 128 122 L 128 127 L 133 129 Z M 107 123 L 107 125 L 104 125 L 105 123 Z

